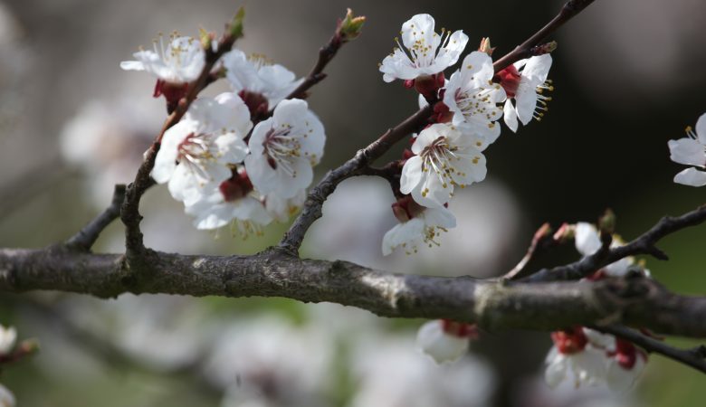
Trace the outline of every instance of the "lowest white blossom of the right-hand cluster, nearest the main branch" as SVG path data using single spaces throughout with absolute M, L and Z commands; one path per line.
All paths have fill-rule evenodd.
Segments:
M 409 203 L 408 206 L 413 204 Z M 420 244 L 438 246 L 439 234 L 456 226 L 456 218 L 444 206 L 418 207 L 415 211 L 405 211 L 404 217 L 397 218 L 400 223 L 387 231 L 383 237 L 382 251 L 386 256 L 397 247 L 402 247 L 407 254 L 411 254 L 419 249 Z

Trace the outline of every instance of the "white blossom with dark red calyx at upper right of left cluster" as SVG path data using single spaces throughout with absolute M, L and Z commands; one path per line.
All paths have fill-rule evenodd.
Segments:
M 240 50 L 233 50 L 226 53 L 222 61 L 231 87 L 248 104 L 251 112 L 258 108 L 264 111 L 274 109 L 303 80 L 297 80 L 293 72 L 280 64 L 270 62 L 260 54 L 248 57 Z M 258 97 L 262 100 L 254 100 Z M 254 102 L 253 106 L 248 103 L 251 100 Z M 266 102 L 265 105 L 262 105 L 263 101 Z

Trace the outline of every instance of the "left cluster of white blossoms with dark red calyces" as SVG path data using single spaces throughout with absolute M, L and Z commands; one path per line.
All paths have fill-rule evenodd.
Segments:
M 134 57 L 120 66 L 157 76 L 154 96 L 163 95 L 167 108 L 205 67 L 202 43 L 176 34 Z M 197 229 L 230 223 L 243 235 L 259 234 L 303 204 L 326 135 L 306 101 L 286 99 L 302 80 L 285 67 L 234 49 L 215 70 L 232 91 L 191 103 L 164 133 L 151 175 L 185 205 Z

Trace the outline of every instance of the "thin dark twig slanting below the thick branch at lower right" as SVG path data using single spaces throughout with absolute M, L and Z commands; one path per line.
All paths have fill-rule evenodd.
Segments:
M 706 358 L 706 346 L 704 345 L 692 349 L 679 349 L 628 327 L 612 325 L 591 328 L 604 334 L 621 337 L 634 343 L 634 345 L 642 347 L 648 353 L 663 355 L 706 374 L 706 360 L 704 359 Z

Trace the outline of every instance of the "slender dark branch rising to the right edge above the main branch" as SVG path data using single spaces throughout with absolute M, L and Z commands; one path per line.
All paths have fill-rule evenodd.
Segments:
M 539 270 L 537 273 L 522 280 L 538 282 L 583 279 L 617 260 L 640 254 L 649 254 L 659 260 L 666 260 L 667 255 L 655 246 L 657 241 L 660 241 L 670 233 L 681 231 L 690 226 L 696 226 L 704 221 L 706 221 L 706 205 L 701 205 L 692 212 L 682 214 L 682 216 L 665 216 L 652 229 L 644 232 L 634 241 L 625 244 L 625 246 L 599 250 L 590 256 L 565 266 Z

